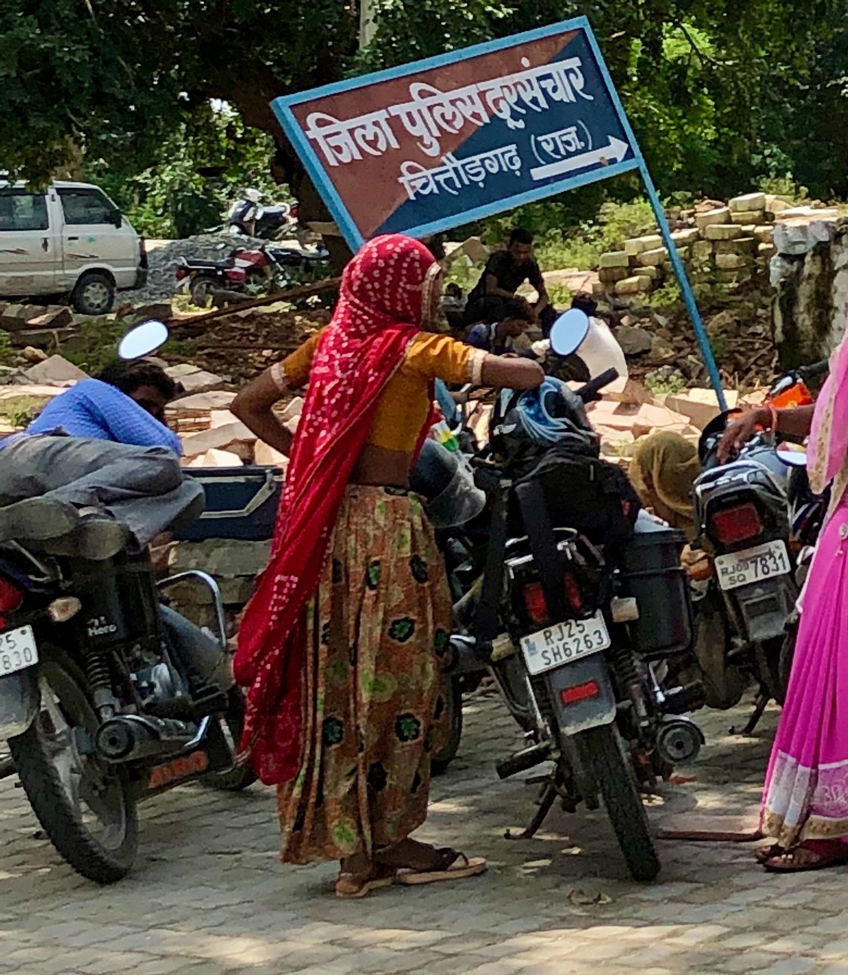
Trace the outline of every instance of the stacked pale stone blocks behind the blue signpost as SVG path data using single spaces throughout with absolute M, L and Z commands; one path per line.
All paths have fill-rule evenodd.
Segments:
M 675 230 L 672 239 L 692 282 L 737 285 L 767 274 L 776 253 L 775 221 L 795 212 L 785 198 L 766 193 L 737 196 L 726 206 L 710 201 L 696 207 L 686 221 L 691 226 Z M 674 280 L 674 269 L 657 234 L 601 254 L 598 277 L 596 294 L 633 297 Z

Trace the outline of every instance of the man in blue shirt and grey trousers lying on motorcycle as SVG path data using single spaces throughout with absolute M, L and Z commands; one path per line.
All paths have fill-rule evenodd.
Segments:
M 128 532 L 147 545 L 201 510 L 203 488 L 183 482 L 179 438 L 163 422 L 175 393 L 158 366 L 116 362 L 0 442 L 0 542 L 108 559 Z

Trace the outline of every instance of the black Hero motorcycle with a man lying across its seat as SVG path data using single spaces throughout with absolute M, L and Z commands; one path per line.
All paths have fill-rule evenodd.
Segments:
M 163 331 L 145 323 L 119 351 L 154 351 L 161 341 L 148 347 L 145 334 Z M 0 737 L 59 854 L 83 877 L 112 883 L 135 860 L 138 802 L 195 780 L 251 784 L 235 759 L 244 696 L 211 576 L 157 584 L 146 550 L 96 563 L 51 548 L 0 544 Z M 169 607 L 168 590 L 186 581 L 209 590 L 216 633 Z

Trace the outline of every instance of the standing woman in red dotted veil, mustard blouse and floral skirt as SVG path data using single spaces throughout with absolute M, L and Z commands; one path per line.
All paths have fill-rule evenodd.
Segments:
M 368 242 L 345 268 L 328 327 L 233 405 L 290 457 L 271 563 L 239 635 L 243 747 L 278 787 L 281 859 L 340 860 L 340 897 L 485 869 L 409 839 L 427 815 L 451 619 L 408 476 L 434 379 L 532 388 L 543 373 L 422 331 L 440 292 L 441 268 L 422 244 Z M 272 408 L 307 383 L 292 442 Z

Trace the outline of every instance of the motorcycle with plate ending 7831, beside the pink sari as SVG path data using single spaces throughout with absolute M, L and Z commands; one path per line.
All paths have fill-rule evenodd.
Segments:
M 827 363 L 789 373 L 767 402 L 781 409 L 812 404 L 805 380 L 823 369 Z M 797 532 L 812 530 L 816 505 L 790 502 L 803 497 L 806 471 L 771 434 L 757 434 L 733 461 L 718 463 L 731 415 L 716 417 L 699 445 L 703 473 L 693 489 L 695 517 L 702 546 L 713 555 L 713 575 L 699 604 L 697 656 L 711 707 L 733 707 L 751 678 L 757 682 L 751 719 L 741 729 L 751 734 L 769 700 L 783 703 L 785 697 L 781 661 L 799 592 Z

